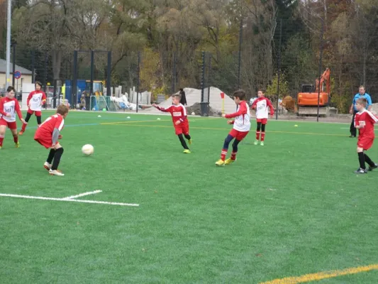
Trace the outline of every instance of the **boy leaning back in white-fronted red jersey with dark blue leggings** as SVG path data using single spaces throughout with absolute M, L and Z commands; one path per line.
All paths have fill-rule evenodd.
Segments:
M 233 100 L 235 104 L 238 105 L 238 110 L 234 114 L 222 114 L 226 119 L 232 119 L 235 117 L 235 120 L 227 121 L 228 124 L 233 124 L 233 129 L 228 133 L 228 136 L 224 141 L 221 159 L 216 161 L 216 165 L 218 166 L 230 165 L 230 163 L 235 162 L 236 153 L 238 153 L 238 144 L 250 131 L 250 108 L 248 107 L 247 102 L 245 102 L 245 91 L 239 89 L 234 92 Z M 235 141 L 233 141 L 234 138 Z M 233 152 L 231 153 L 231 157 L 226 160 L 228 145 L 231 141 L 233 141 Z

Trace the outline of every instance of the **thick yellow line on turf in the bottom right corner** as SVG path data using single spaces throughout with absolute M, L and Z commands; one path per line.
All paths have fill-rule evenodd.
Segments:
M 311 273 L 306 275 L 301 275 L 298 277 L 287 277 L 282 279 L 274 279 L 272 281 L 263 282 L 260 284 L 296 284 L 296 283 L 306 283 L 310 281 L 323 280 L 327 278 L 334 278 L 343 275 L 356 274 L 361 272 L 378 270 L 378 264 L 372 264 L 370 266 L 359 266 L 354 268 L 346 268 L 340 271 L 325 271 L 318 273 Z

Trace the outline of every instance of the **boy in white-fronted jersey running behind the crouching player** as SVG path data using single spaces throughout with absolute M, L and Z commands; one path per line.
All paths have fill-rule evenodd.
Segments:
M 40 89 L 42 84 L 40 82 L 35 82 L 35 91 L 30 92 L 26 104 L 28 104 L 28 113 L 26 114 L 26 124 L 22 125 L 19 135 L 22 135 L 25 132 L 26 126 L 32 114 L 35 114 L 37 117 L 37 124 L 40 126 L 42 123 L 42 106 L 46 102 L 46 94 Z

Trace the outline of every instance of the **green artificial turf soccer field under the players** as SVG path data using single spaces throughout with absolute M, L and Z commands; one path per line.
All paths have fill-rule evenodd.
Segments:
M 21 148 L 7 131 L 0 283 L 377 283 L 378 170 L 353 173 L 348 124 L 269 121 L 262 147 L 252 121 L 217 168 L 231 126 L 189 123 L 183 154 L 170 116 L 72 111 L 64 177 L 43 168 L 34 116 Z

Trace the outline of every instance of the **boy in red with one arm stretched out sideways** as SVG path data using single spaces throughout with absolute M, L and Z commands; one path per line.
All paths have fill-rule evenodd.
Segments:
M 189 121 L 187 117 L 187 109 L 180 104 L 180 99 L 181 96 L 179 94 L 172 95 L 172 105 L 167 107 L 167 109 L 159 107 L 157 104 L 152 104 L 152 106 L 156 107 L 160 111 L 169 112 L 172 115 L 174 131 L 179 137 L 182 147 L 184 147 L 183 153 L 189 154 L 191 152 L 187 146 L 187 142 L 184 139 L 185 136 L 189 142 L 189 145 L 191 144 L 191 137 L 189 135 Z

